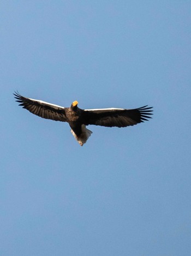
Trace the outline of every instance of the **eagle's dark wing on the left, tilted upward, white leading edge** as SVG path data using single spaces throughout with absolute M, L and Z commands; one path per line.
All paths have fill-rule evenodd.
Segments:
M 42 118 L 51 119 L 54 121 L 66 122 L 65 108 L 46 103 L 41 100 L 29 99 L 21 96 L 18 92 L 14 93 L 15 99 L 19 102 L 19 106 L 23 109 L 27 109 L 34 115 L 40 116 Z

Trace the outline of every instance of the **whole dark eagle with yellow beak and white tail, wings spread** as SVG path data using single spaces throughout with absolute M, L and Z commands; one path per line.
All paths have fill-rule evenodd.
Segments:
M 94 124 L 95 126 L 105 127 L 127 127 L 148 121 L 151 118 L 152 107 L 143 106 L 138 109 L 80 109 L 78 102 L 74 101 L 70 107 L 62 107 L 50 104 L 42 100 L 34 100 L 21 96 L 18 92 L 14 93 L 19 106 L 27 109 L 34 115 L 53 121 L 68 122 L 71 133 L 78 143 L 83 146 L 89 136 L 92 134 L 86 126 Z

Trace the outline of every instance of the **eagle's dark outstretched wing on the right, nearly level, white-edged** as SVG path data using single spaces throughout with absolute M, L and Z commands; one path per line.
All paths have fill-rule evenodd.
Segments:
M 148 121 L 151 118 L 152 107 L 139 107 L 138 109 L 92 109 L 83 111 L 85 125 L 95 124 L 106 127 L 127 127 Z

